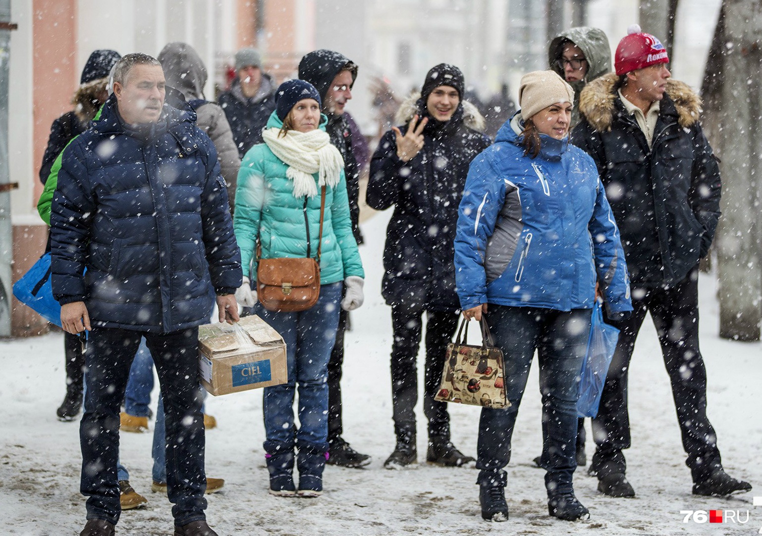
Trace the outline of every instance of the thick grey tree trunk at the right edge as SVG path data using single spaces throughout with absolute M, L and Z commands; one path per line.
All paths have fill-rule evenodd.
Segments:
M 706 62 L 706 133 L 721 159 L 722 218 L 715 249 L 720 337 L 759 340 L 762 323 L 762 88 L 757 0 L 723 0 Z

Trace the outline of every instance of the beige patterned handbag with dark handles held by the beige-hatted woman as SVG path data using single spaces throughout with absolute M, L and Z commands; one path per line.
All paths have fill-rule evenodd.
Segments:
M 511 406 L 505 395 L 503 353 L 495 347 L 482 315 L 482 346 L 466 344 L 469 321 L 460 323 L 455 342 L 447 345 L 442 382 L 434 397 L 441 402 L 491 408 Z M 463 337 L 461 337 L 463 335 Z

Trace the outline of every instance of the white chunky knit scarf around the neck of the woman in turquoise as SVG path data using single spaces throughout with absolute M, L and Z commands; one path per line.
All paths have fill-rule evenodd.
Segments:
M 264 129 L 262 138 L 277 158 L 288 165 L 286 176 L 293 180 L 293 196 L 314 197 L 318 194 L 312 174 L 320 172 L 318 185 L 335 187 L 341 178 L 344 159 L 331 145 L 328 134 L 320 129 L 310 132 L 289 130 L 279 136 L 280 129 Z

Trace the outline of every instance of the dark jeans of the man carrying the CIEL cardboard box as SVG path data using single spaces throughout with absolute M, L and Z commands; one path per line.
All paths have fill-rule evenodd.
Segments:
M 87 393 L 79 436 L 82 494 L 88 519 L 120 515 L 117 457 L 119 410 L 141 337 L 154 359 L 166 410 L 167 487 L 175 525 L 204 519 L 204 433 L 198 384 L 198 329 L 143 333 L 95 327 L 85 354 Z

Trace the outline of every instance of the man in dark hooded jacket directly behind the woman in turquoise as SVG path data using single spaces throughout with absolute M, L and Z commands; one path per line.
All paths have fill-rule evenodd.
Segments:
M 299 78 L 314 85 L 320 95 L 322 112 L 328 117 L 325 132 L 328 132 L 331 144 L 338 149 L 344 160 L 352 232 L 357 244 L 362 244 L 358 203 L 360 165 L 354 157 L 354 136 L 345 111 L 347 101 L 352 98 L 357 65 L 333 50 L 315 50 L 306 54 L 299 62 Z M 341 419 L 341 368 L 344 365 L 344 333 L 348 324 L 349 312 L 342 309 L 339 312 L 336 343 L 328 361 L 328 464 L 364 467 L 370 464 L 370 456 L 354 450 L 342 437 L 344 426 Z

